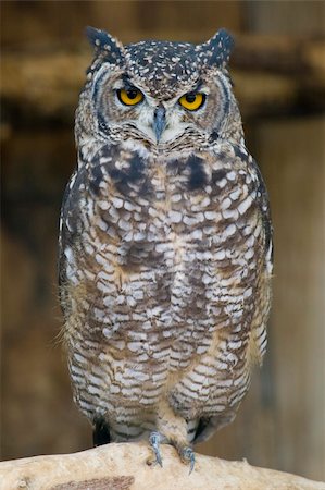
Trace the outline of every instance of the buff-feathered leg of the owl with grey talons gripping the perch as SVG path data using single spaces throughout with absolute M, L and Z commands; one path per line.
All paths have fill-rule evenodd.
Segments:
M 167 443 L 174 445 L 180 460 L 189 463 L 192 471 L 196 463 L 193 450 L 188 444 L 187 422 L 177 416 L 167 402 L 161 403 L 157 417 L 157 431 L 151 432 L 149 442 L 155 455 L 155 462 L 162 466 L 160 444 Z

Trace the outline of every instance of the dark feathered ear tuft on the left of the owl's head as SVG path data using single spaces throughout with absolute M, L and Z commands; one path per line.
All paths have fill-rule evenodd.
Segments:
M 123 59 L 123 45 L 109 33 L 95 27 L 86 27 L 86 36 L 95 47 L 97 54 L 103 54 L 108 61 L 114 63 Z

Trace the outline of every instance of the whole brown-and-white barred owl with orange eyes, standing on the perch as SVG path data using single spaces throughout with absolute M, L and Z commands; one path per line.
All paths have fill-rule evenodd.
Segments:
M 193 443 L 230 422 L 266 346 L 272 225 L 227 72 L 230 35 L 127 46 L 88 27 L 60 299 L 95 444 Z

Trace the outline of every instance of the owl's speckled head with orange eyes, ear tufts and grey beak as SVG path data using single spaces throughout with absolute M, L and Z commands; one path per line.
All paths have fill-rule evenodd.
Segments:
M 238 133 L 240 117 L 226 70 L 233 38 L 226 30 L 201 45 L 149 40 L 123 46 L 92 27 L 87 36 L 96 57 L 77 123 L 88 136 L 166 154 Z

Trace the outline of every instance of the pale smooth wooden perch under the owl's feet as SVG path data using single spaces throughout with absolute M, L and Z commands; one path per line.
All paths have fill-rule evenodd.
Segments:
M 325 483 L 197 454 L 189 475 L 172 446 L 162 446 L 163 468 L 150 465 L 146 443 L 108 444 L 76 454 L 0 463 L 1 490 L 325 490 Z

